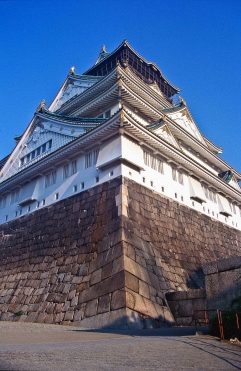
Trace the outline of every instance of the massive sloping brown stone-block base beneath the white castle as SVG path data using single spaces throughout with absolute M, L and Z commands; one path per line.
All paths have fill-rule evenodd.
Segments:
M 0 234 L 1 320 L 93 328 L 173 324 L 165 293 L 204 287 L 204 263 L 241 253 L 240 232 L 122 177 Z

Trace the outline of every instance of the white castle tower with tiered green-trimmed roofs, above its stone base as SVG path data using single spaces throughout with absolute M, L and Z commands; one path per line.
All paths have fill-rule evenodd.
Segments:
M 241 229 L 241 174 L 199 130 L 180 90 L 124 40 L 74 67 L 0 162 L 0 223 L 119 176 Z

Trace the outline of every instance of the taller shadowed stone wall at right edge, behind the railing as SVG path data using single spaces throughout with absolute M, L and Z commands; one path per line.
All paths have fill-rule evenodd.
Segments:
M 231 310 L 232 300 L 241 297 L 241 256 L 207 263 L 203 269 L 207 309 Z

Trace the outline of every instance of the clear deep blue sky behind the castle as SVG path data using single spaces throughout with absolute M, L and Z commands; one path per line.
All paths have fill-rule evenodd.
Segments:
M 124 38 L 241 171 L 241 0 L 0 0 L 0 159 L 71 66 L 84 72 Z

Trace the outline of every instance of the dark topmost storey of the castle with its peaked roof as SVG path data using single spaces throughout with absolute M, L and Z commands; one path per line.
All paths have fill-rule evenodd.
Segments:
M 132 70 L 148 84 L 157 83 L 160 90 L 167 98 L 180 92 L 179 88 L 172 85 L 163 75 L 159 67 L 152 62 L 147 62 L 124 40 L 118 48 L 105 58 L 97 59 L 97 62 L 84 75 L 105 76 L 118 64 L 129 66 Z

